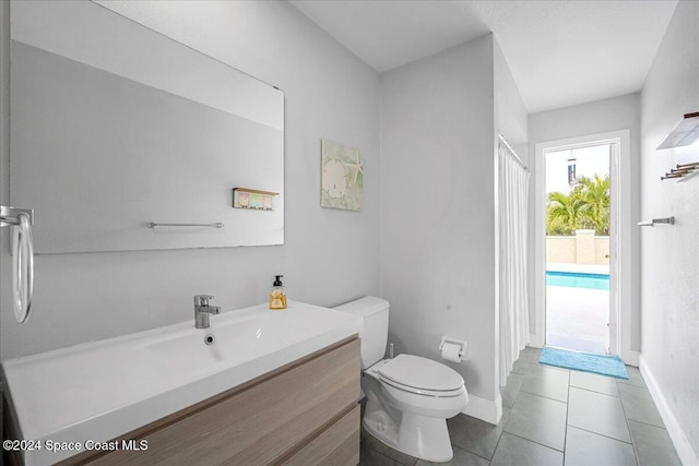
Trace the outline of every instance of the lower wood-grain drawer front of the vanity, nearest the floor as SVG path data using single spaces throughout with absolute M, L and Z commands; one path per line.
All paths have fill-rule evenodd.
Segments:
M 359 405 L 304 446 L 284 466 L 356 466 L 359 463 Z

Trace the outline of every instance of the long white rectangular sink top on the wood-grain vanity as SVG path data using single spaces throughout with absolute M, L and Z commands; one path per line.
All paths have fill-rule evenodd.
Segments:
M 23 439 L 105 442 L 359 333 L 355 315 L 289 301 L 5 360 Z M 204 338 L 215 342 L 206 345 Z M 25 453 L 27 465 L 81 451 Z

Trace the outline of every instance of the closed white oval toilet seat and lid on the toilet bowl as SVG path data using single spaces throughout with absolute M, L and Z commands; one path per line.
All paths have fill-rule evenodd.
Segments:
M 413 355 L 399 355 L 377 368 L 378 379 L 394 389 L 435 397 L 460 396 L 463 378 L 453 369 Z

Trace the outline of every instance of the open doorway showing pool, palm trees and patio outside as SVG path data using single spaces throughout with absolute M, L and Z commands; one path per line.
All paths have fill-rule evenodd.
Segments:
M 614 144 L 544 151 L 546 346 L 611 353 L 609 160 Z

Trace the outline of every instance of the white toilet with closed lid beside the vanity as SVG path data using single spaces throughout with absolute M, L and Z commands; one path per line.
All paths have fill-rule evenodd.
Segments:
M 364 427 L 387 445 L 430 462 L 453 456 L 447 419 L 469 403 L 461 375 L 418 356 L 382 359 L 389 331 L 389 302 L 367 296 L 335 308 L 364 319 L 362 389 L 367 396 Z M 437 342 L 435 346 L 437 346 Z

